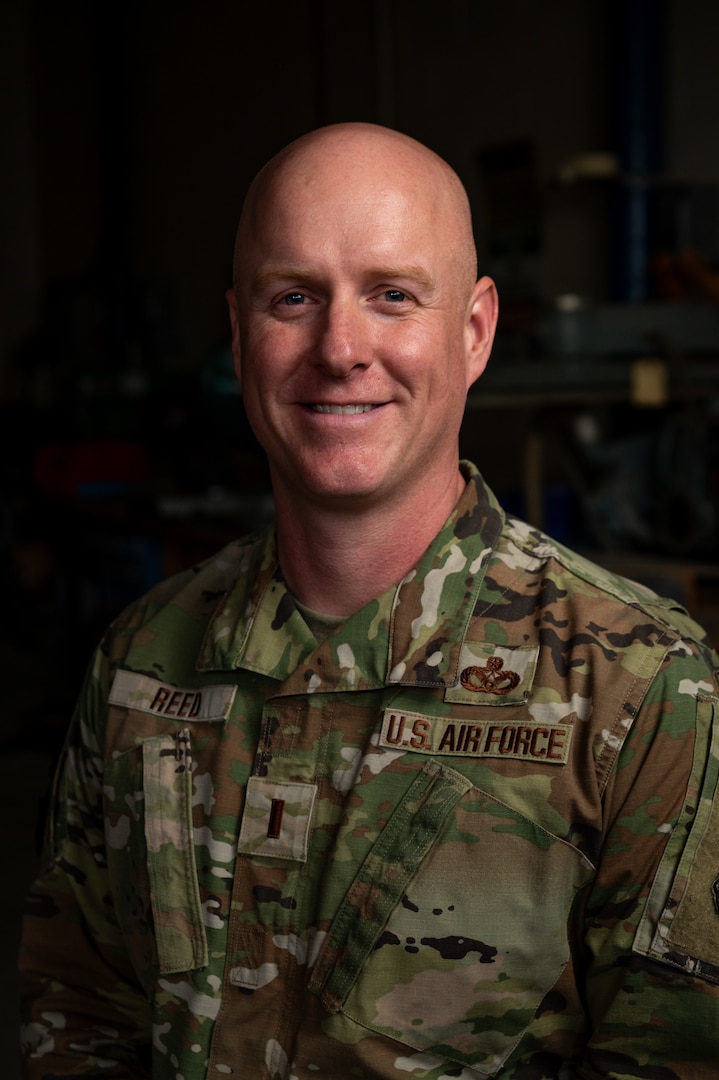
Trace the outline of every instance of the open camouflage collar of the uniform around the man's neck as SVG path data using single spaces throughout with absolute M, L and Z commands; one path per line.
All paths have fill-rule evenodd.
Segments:
M 503 514 L 478 471 L 417 566 L 320 645 L 277 565 L 274 531 L 248 548 L 211 625 L 198 666 L 242 667 L 283 683 L 284 693 L 384 685 L 451 686 Z

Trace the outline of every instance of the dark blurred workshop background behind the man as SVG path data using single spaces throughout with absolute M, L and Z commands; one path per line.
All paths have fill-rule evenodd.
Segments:
M 463 455 L 719 640 L 718 45 L 708 0 L 0 4 L 3 1076 L 90 652 L 272 513 L 223 294 L 246 187 L 289 139 L 369 120 L 455 166 L 501 301 Z

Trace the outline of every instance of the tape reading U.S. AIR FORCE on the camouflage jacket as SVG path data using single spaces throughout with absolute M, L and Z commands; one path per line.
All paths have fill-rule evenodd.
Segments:
M 465 723 L 448 716 L 425 716 L 385 708 L 380 746 L 416 754 L 514 758 L 544 765 L 566 765 L 571 724 L 520 724 L 505 720 Z

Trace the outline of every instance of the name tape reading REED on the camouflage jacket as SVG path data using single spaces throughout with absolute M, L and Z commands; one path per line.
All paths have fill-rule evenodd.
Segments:
M 153 716 L 178 720 L 226 720 L 236 686 L 203 686 L 184 689 L 138 672 L 119 671 L 110 690 L 111 705 L 122 705 Z

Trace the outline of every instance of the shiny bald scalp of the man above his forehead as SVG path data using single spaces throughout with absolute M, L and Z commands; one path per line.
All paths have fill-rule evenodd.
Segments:
M 401 192 L 413 216 L 428 229 L 442 230 L 452 272 L 462 294 L 476 280 L 477 259 L 466 192 L 457 173 L 416 139 L 389 127 L 342 123 L 320 127 L 281 150 L 258 173 L 242 211 L 234 253 L 234 284 L 240 294 L 248 248 L 261 245 L 267 230 L 280 228 L 277 207 L 316 194 L 317 207 L 329 193 L 337 200 L 376 200 Z M 286 222 L 289 224 L 289 222 Z

